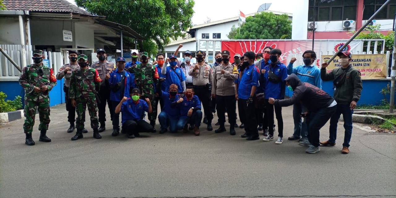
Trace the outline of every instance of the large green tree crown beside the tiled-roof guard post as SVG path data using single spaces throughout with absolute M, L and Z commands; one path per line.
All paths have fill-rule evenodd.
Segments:
M 144 47 L 153 47 L 153 42 L 163 50 L 169 44 L 170 38 L 176 40 L 179 36 L 184 36 L 185 30 L 192 27 L 194 0 L 75 0 L 75 2 L 90 13 L 106 16 L 109 21 L 127 25 L 135 30 L 145 38 L 145 42 L 139 42 L 141 51 L 149 51 Z

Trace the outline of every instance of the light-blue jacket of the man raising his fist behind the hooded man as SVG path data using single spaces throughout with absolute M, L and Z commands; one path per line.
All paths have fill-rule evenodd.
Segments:
M 299 65 L 297 67 L 293 67 L 293 64 L 289 63 L 289 65 L 287 65 L 287 74 L 296 74 L 301 82 L 308 82 L 309 84 L 322 89 L 320 69 L 315 66 L 315 63 L 312 63 L 312 65 L 308 66 Z

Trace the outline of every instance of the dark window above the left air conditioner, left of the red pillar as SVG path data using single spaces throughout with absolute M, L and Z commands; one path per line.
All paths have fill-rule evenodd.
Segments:
M 315 1 L 315 8 L 314 8 Z M 308 21 L 356 20 L 357 0 L 309 0 Z

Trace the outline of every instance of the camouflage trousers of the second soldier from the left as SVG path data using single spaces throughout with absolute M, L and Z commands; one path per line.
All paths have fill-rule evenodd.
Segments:
M 84 122 L 85 122 L 85 110 L 88 107 L 89 117 L 91 118 L 91 128 L 98 128 L 99 121 L 98 121 L 98 105 L 96 103 L 95 96 L 90 97 L 89 99 L 85 99 L 83 97 L 76 99 L 76 128 L 77 129 L 84 129 Z

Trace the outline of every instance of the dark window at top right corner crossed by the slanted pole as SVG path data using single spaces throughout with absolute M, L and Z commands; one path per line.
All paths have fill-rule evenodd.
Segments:
M 369 19 L 384 3 L 385 0 L 364 0 L 363 20 Z M 396 2 L 391 2 L 375 16 L 375 19 L 394 19 L 395 11 Z

